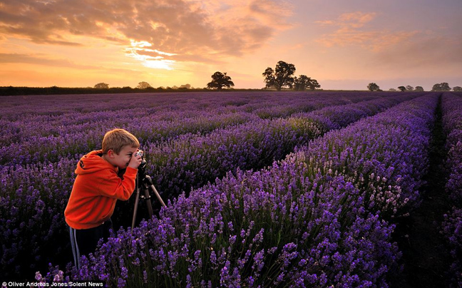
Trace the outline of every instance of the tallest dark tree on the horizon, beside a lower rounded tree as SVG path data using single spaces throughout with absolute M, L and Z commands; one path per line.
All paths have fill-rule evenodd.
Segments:
M 276 68 L 274 70 L 268 67 L 262 75 L 265 77 L 267 88 L 274 86 L 277 91 L 281 91 L 281 89 L 286 86 L 292 88 L 294 85 L 294 78 L 292 75 L 294 75 L 294 73 L 294 64 L 279 61 L 277 62 Z

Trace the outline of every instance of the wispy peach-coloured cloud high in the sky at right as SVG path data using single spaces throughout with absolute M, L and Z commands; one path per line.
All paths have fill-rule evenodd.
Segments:
M 360 11 L 340 15 L 336 20 L 316 21 L 319 26 L 336 28 L 316 41 L 324 46 L 361 46 L 371 51 L 382 51 L 390 46 L 409 40 L 419 31 L 367 30 L 366 24 L 376 18 L 375 12 Z

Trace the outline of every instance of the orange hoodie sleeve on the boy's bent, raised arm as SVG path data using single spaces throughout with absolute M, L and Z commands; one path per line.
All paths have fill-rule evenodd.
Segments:
M 111 171 L 98 187 L 100 194 L 118 200 L 128 200 L 135 190 L 136 173 L 137 169 L 128 167 L 122 180 L 115 171 Z

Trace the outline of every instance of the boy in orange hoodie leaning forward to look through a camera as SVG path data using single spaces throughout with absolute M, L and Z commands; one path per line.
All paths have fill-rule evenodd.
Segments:
M 101 150 L 84 155 L 78 162 L 77 177 L 64 211 L 78 269 L 80 256 L 94 252 L 101 238 L 107 240 L 117 200 L 128 200 L 135 190 L 142 160 L 136 153 L 139 147 L 134 135 L 114 129 L 104 135 Z

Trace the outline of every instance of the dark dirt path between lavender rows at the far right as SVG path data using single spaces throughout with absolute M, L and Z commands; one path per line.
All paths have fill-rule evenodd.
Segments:
M 394 240 L 403 252 L 403 274 L 393 280 L 391 287 L 434 288 L 448 287 L 446 272 L 450 257 L 439 234 L 443 215 L 451 207 L 444 190 L 447 169 L 444 167 L 447 151 L 446 135 L 441 121 L 441 97 L 436 110 L 436 123 L 430 146 L 430 168 L 427 185 L 421 189 L 422 202 L 409 217 L 396 223 Z

